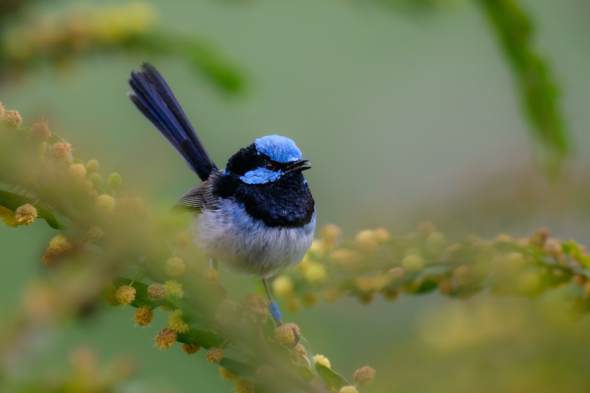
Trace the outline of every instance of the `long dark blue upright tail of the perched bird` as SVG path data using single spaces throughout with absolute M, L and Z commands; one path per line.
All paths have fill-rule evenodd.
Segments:
M 207 180 L 211 171 L 217 170 L 217 167 L 162 75 L 153 65 L 144 63 L 142 71 L 131 72 L 129 84 L 135 94 L 127 95 L 135 106 L 182 154 L 201 180 Z

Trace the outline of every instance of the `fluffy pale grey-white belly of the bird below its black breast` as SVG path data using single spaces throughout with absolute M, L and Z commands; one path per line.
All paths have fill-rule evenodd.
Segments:
M 238 273 L 270 277 L 297 265 L 312 246 L 316 213 L 297 228 L 269 227 L 232 200 L 195 218 L 195 242 L 209 256 Z

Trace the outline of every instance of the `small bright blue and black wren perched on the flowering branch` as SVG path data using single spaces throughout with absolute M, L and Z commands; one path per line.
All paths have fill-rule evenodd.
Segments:
M 297 265 L 312 245 L 316 210 L 293 140 L 269 135 L 241 148 L 218 170 L 168 84 L 148 63 L 132 71 L 129 98 L 201 178 L 177 206 L 192 210 L 195 241 L 231 270 L 263 279 L 273 318 L 281 315 L 266 279 Z

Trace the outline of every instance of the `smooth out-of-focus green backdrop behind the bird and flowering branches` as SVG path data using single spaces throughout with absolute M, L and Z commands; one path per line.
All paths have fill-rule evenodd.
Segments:
M 73 3 L 38 2 L 22 12 L 32 18 Z M 218 166 L 257 137 L 293 138 L 313 163 L 306 177 L 320 226 L 336 223 L 345 237 L 375 226 L 403 235 L 432 220 L 450 239 L 526 236 L 547 227 L 590 243 L 588 2 L 521 2 L 535 21 L 536 47 L 557 75 L 572 136 L 573 155 L 558 179 L 535 169 L 510 66 L 473 2 L 425 9 L 330 0 L 145 3 L 163 28 L 209 42 L 241 70 L 244 89 L 224 93 L 174 57 L 99 53 L 65 71 L 44 66 L 4 78 L 0 100 L 25 123 L 47 119 L 78 157 L 96 158 L 103 173 L 119 172 L 124 188 L 146 204 L 171 205 L 198 181 L 126 97 L 130 70 L 150 61 Z M 53 235 L 44 222 L 0 230 L 0 311 L 18 308 L 21 289 L 43 274 L 40 257 Z M 253 279 L 223 274 L 236 298 L 255 289 Z M 133 309 L 102 311 L 40 335 L 30 348 L 33 362 L 11 358 L 15 375 L 63 368 L 67 352 L 85 344 L 101 359 L 135 355 L 137 391 L 230 389 L 204 356 L 152 348 L 157 327 L 133 328 Z M 164 318 L 157 315 L 152 326 Z M 569 321 L 552 299 L 341 299 L 286 319 L 343 374 L 376 368 L 375 385 L 363 391 L 590 389 L 590 325 Z

